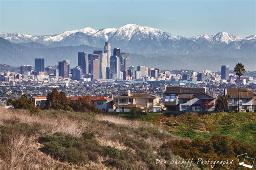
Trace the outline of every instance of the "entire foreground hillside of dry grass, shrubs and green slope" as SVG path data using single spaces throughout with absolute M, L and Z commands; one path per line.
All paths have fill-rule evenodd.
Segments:
M 203 169 L 211 165 L 156 159 L 209 158 L 233 159 L 237 169 L 236 155 L 256 155 L 255 113 L 121 116 L 0 107 L 0 168 Z

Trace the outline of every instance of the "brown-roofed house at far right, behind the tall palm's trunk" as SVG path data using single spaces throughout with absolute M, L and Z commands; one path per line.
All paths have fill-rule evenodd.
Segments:
M 224 90 L 224 96 L 230 95 L 228 102 L 229 111 L 238 110 L 238 88 L 227 88 Z M 240 89 L 240 111 L 252 112 L 254 94 L 252 89 Z

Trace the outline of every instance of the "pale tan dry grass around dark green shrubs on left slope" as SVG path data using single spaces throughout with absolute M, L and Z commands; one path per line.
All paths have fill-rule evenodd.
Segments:
M 60 162 L 39 151 L 41 144 L 37 139 L 42 134 L 63 132 L 81 137 L 84 131 L 96 134 L 96 140 L 102 146 L 111 146 L 119 150 L 134 148 L 125 146 L 127 139 L 144 141 L 145 145 L 156 153 L 167 140 L 179 139 L 156 125 L 142 121 L 131 121 L 109 115 L 91 115 L 65 111 L 41 111 L 32 115 L 26 110 L 11 110 L 0 107 L 0 125 L 11 126 L 8 120 L 18 119 L 21 123 L 40 126 L 39 132 L 30 137 L 21 134 L 14 136 L 8 144 L 8 157 L 0 158 L 0 169 L 105 169 L 102 161 L 92 162 L 84 167 Z M 144 134 L 147 133 L 147 134 Z M 145 137 L 144 137 L 145 135 Z M 1 133 L 0 133 L 1 137 Z M 104 160 L 104 158 L 101 158 Z M 143 165 L 143 162 L 137 162 Z

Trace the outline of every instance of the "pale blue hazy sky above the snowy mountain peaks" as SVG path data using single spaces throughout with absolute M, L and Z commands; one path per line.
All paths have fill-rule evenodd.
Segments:
M 85 27 L 133 23 L 184 37 L 226 31 L 255 35 L 255 1 L 12 1 L 0 0 L 0 32 L 55 35 Z

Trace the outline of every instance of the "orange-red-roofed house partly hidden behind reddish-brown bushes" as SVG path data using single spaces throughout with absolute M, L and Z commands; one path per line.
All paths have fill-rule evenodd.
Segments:
M 83 96 L 78 96 L 78 97 L 67 97 L 69 100 L 77 100 L 78 98 L 82 98 Z M 111 98 L 106 98 L 104 96 L 90 96 L 89 100 L 91 103 L 95 104 L 96 107 L 103 112 L 107 112 L 109 110 L 113 110 L 114 105 L 113 105 L 113 99 Z

